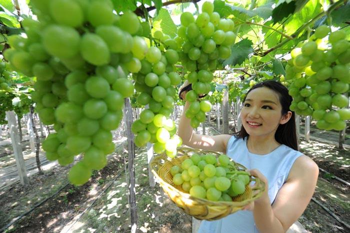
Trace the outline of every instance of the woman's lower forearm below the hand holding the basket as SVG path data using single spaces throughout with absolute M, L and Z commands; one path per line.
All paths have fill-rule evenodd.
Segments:
M 267 198 L 254 202 L 253 210 L 256 228 L 261 233 L 285 232 L 281 222 L 275 217 L 270 201 Z

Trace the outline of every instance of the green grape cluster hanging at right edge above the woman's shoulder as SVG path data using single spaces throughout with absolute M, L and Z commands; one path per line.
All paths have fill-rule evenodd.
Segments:
M 290 109 L 312 115 L 316 126 L 342 130 L 350 119 L 350 42 L 345 32 L 322 25 L 308 41 L 291 51 L 285 79 L 292 81 Z

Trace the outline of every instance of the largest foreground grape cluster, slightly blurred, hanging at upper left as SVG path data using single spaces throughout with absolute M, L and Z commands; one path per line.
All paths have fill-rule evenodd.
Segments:
M 114 150 L 111 130 L 122 118 L 124 98 L 134 92 L 128 72 L 141 68 L 141 23 L 133 12 L 113 13 L 110 0 L 31 0 L 38 21 L 25 18 L 27 37 L 10 36 L 4 57 L 35 76 L 32 99 L 56 133 L 42 143 L 61 165 L 83 153 L 69 180 L 82 184 Z

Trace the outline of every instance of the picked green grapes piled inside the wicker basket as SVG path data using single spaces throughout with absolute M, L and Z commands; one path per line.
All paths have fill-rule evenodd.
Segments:
M 249 183 L 249 173 L 237 170 L 227 155 L 193 154 L 170 168 L 172 182 L 185 192 L 208 200 L 232 201 Z

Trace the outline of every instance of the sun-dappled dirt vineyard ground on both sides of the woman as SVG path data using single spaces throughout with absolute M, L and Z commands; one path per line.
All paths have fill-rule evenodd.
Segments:
M 211 126 L 214 125 L 213 122 Z M 211 134 L 217 134 L 210 128 L 207 130 Z M 109 155 L 107 166 L 94 172 L 90 181 L 82 186 L 68 184 L 66 174 L 69 166 L 55 166 L 44 175 L 30 176 L 29 187 L 16 183 L 0 191 L 0 228 L 57 193 L 5 232 L 129 232 L 125 148 L 125 145 L 120 144 Z M 349 150 L 339 150 L 336 146 L 314 140 L 301 141 L 300 148 L 319 167 L 349 181 Z M 149 187 L 145 148 L 136 152 L 134 164 L 137 232 L 191 232 L 191 217 L 164 196 L 157 184 Z M 314 197 L 349 223 L 349 188 L 332 178 L 331 174 L 320 172 Z M 299 221 L 313 233 L 345 233 L 350 230 L 313 201 L 310 201 Z

